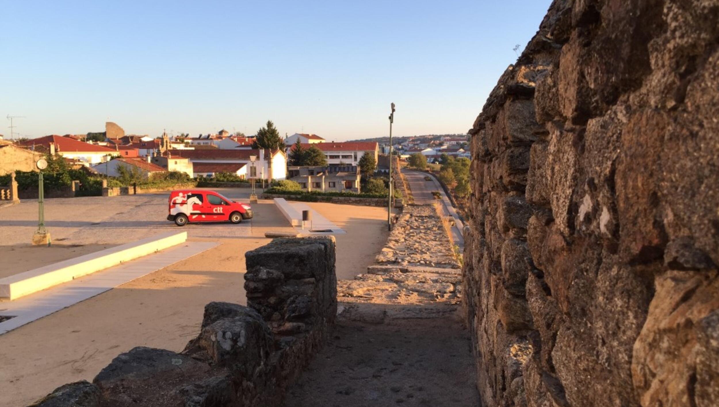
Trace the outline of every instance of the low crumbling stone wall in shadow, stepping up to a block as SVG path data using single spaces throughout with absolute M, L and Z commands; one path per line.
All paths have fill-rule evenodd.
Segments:
M 183 352 L 135 347 L 33 406 L 280 406 L 334 323 L 334 238 L 275 239 L 245 257 L 248 307 L 211 302 Z

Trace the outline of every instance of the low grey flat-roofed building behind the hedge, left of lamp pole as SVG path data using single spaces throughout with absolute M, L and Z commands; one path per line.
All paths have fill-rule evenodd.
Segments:
M 359 192 L 359 168 L 354 165 L 288 167 L 288 177 L 306 191 Z

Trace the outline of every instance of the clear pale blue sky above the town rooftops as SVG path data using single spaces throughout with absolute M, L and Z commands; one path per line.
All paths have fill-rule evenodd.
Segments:
M 464 133 L 550 3 L 2 1 L 0 134 Z

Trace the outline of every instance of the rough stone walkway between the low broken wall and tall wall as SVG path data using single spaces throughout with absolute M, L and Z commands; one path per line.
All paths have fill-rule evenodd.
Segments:
M 367 273 L 337 282 L 334 337 L 285 407 L 479 406 L 451 247 L 434 205 L 405 207 Z

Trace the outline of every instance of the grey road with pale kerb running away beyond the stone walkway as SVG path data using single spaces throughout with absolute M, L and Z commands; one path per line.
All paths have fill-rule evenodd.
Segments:
M 459 253 L 464 253 L 464 234 L 462 233 L 464 223 L 462 223 L 457 210 L 452 205 L 452 201 L 450 201 L 449 197 L 446 196 L 436 177 L 426 172 L 413 171 L 410 169 L 403 169 L 402 174 L 404 174 L 407 179 L 410 190 L 412 190 L 414 203 L 416 204 L 424 205 L 435 202 L 432 191 L 439 192 L 441 195 L 442 215 L 445 217 L 451 216 L 454 219 L 454 227 L 452 227 L 452 242 L 459 246 Z M 427 181 L 425 177 L 430 177 L 431 180 Z

